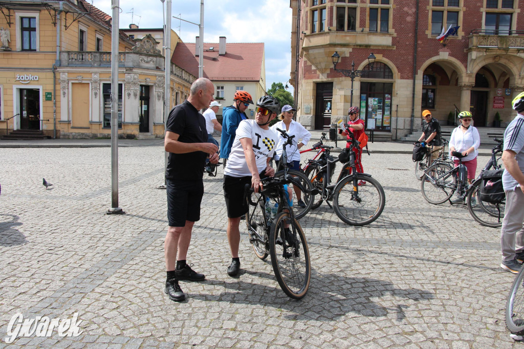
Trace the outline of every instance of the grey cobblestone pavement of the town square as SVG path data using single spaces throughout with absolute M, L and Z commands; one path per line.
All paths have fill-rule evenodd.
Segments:
M 394 145 L 392 146 L 394 147 Z M 204 282 L 163 293 L 166 192 L 161 146 L 119 149 L 111 207 L 110 148 L 1 149 L 0 347 L 15 313 L 71 318 L 82 334 L 18 338 L 47 347 L 511 347 L 504 308 L 513 280 L 499 268 L 499 229 L 467 209 L 430 205 L 408 154 L 363 156 L 386 192 L 379 219 L 342 223 L 323 204 L 300 221 L 308 237 L 308 294 L 290 300 L 245 229 L 242 271 L 230 262 L 219 176 L 204 177 L 188 262 Z M 479 166 L 487 161 L 479 157 Z M 482 164 L 482 165 L 481 165 Z M 54 184 L 46 190 L 42 177 Z M 243 226 L 242 226 L 243 227 Z

